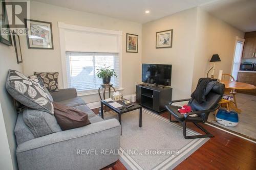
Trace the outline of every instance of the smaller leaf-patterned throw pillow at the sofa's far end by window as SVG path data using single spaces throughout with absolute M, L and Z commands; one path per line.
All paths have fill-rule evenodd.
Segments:
M 34 75 L 41 76 L 45 87 L 49 91 L 59 91 L 58 88 L 58 72 L 34 72 Z

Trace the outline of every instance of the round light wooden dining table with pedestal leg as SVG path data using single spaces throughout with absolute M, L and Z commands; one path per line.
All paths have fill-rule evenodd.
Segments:
M 225 89 L 231 89 L 231 94 L 234 97 L 234 105 L 232 102 L 229 103 L 229 107 L 232 108 L 233 110 L 237 111 L 238 113 L 241 113 L 241 109 L 238 108 L 237 106 L 237 101 L 236 101 L 236 92 L 232 92 L 233 90 L 254 90 L 256 89 L 256 86 L 248 83 L 243 83 L 243 82 L 236 82 L 236 81 L 222 81 L 222 83 L 225 84 Z

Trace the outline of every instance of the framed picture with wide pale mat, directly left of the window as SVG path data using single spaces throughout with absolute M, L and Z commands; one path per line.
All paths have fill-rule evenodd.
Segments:
M 52 23 L 25 19 L 28 48 L 53 49 Z

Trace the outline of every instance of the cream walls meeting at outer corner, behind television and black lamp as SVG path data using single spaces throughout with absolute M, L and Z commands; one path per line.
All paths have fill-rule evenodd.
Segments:
M 156 32 L 173 29 L 173 47 L 156 48 Z M 173 64 L 173 99 L 190 96 L 198 79 L 212 66 L 212 54 L 219 54 L 218 71 L 230 74 L 236 36 L 244 33 L 200 8 L 188 9 L 142 25 L 142 63 Z

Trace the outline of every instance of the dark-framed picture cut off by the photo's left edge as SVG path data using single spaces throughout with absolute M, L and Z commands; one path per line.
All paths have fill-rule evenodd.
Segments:
M 0 1 L 0 42 L 12 46 L 11 31 L 9 28 L 9 22 L 5 7 L 5 1 Z

